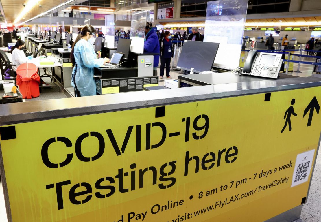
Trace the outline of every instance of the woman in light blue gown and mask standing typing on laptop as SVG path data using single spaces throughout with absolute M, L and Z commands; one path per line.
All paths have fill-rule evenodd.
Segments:
M 70 59 L 72 62 L 71 85 L 76 89 L 76 96 L 96 95 L 94 67 L 109 63 L 108 58 L 97 59 L 92 47 L 95 42 L 96 30 L 86 24 L 73 44 Z

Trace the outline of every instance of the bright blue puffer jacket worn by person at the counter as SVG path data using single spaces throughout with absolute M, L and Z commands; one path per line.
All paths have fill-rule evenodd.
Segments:
M 144 42 L 144 53 L 157 53 L 158 55 L 154 55 L 154 67 L 158 67 L 160 60 L 160 43 L 156 32 L 154 32 L 152 29 L 146 35 L 146 40 Z

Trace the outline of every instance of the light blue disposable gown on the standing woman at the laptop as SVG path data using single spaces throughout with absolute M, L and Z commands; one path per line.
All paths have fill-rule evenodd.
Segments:
M 79 40 L 74 46 L 74 57 L 77 66 L 74 67 L 72 74 L 77 69 L 75 82 L 81 96 L 96 95 L 96 84 L 94 80 L 94 67 L 104 64 L 104 59 L 97 59 L 92 45 L 84 39 Z M 73 84 L 73 80 L 71 85 Z

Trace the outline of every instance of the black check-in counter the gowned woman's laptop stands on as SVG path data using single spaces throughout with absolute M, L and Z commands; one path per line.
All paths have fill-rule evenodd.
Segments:
M 142 91 L 144 87 L 158 86 L 158 77 L 153 76 L 154 54 L 130 52 L 130 44 L 131 39 L 119 39 L 115 51 L 122 54 L 119 64 L 95 67 L 97 94 Z M 109 55 L 113 58 L 111 52 L 109 50 Z

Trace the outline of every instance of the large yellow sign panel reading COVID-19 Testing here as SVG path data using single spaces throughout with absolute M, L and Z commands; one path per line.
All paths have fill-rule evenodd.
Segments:
M 13 222 L 265 221 L 306 201 L 320 100 L 314 87 L 15 124 L 0 140 Z

